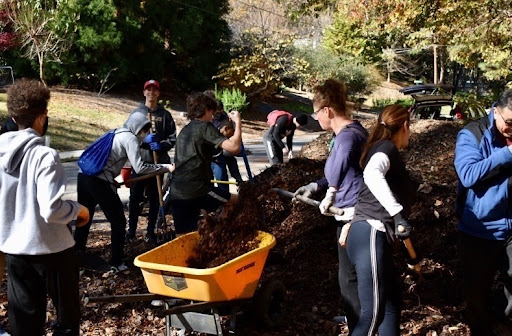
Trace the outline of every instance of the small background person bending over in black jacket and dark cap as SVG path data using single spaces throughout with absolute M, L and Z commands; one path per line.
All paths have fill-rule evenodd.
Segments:
M 270 126 L 263 135 L 263 145 L 271 165 L 283 163 L 284 155 L 288 155 L 289 159 L 293 157 L 293 135 L 298 126 L 304 126 L 307 122 L 308 117 L 305 114 L 299 114 L 297 117 L 284 114 Z M 284 137 L 286 137 L 286 146 L 281 140 Z

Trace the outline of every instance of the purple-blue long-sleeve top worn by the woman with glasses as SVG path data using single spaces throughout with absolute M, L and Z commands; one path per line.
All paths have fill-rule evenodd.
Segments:
M 325 177 L 318 180 L 322 189 L 336 187 L 334 206 L 353 207 L 363 183 L 363 171 L 359 159 L 363 151 L 368 132 L 358 122 L 347 125 L 335 137 L 334 145 L 325 163 Z

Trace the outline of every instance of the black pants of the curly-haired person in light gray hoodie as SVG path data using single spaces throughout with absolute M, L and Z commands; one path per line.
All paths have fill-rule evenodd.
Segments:
M 44 335 L 46 296 L 57 309 L 54 335 L 78 335 L 80 299 L 73 248 L 45 255 L 6 255 L 9 324 L 13 336 Z

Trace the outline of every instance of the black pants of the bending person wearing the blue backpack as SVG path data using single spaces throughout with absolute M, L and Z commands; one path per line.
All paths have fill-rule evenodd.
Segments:
M 89 209 L 91 216 L 86 225 L 77 227 L 75 230 L 76 248 L 85 251 L 94 209 L 99 204 L 105 217 L 110 222 L 110 240 L 112 243 L 110 264 L 113 266 L 122 264 L 126 218 L 124 217 L 123 203 L 114 186 L 100 178 L 79 173 L 77 193 L 78 203 Z

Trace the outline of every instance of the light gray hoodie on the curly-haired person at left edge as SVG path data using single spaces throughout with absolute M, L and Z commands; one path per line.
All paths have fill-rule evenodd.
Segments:
M 40 255 L 74 246 L 66 224 L 80 204 L 63 201 L 65 189 L 59 155 L 36 131 L 0 135 L 0 251 Z

